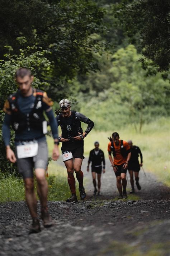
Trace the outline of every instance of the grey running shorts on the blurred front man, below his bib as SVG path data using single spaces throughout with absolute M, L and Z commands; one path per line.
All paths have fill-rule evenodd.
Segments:
M 17 151 L 15 149 L 15 155 L 17 159 L 17 166 L 19 173 L 23 176 L 23 179 L 33 178 L 33 169 L 41 168 L 46 169 L 48 163 L 48 148 L 46 139 L 38 141 L 38 154 L 34 157 L 18 158 Z

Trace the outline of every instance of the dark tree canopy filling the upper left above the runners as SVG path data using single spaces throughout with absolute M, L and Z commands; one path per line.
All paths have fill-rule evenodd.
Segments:
M 48 94 L 59 100 L 69 93 L 65 83 L 77 72 L 98 69 L 93 52 L 101 53 L 106 44 L 91 35 L 104 33 L 103 16 L 103 9 L 90 0 L 2 0 L 0 58 L 4 59 L 5 45 L 14 54 L 33 45 L 50 51 Z

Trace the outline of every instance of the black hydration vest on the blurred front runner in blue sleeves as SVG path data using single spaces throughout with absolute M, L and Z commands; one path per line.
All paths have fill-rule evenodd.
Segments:
M 42 131 L 42 122 L 45 121 L 42 109 L 43 91 L 38 89 L 34 90 L 34 92 L 36 92 L 36 99 L 34 107 L 29 114 L 24 114 L 18 107 L 18 91 L 8 98 L 12 112 L 12 127 L 17 133 L 24 129 L 28 129 L 29 131 L 30 127 Z

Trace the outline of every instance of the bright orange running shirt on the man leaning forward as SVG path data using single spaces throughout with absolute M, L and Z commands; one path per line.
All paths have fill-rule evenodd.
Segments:
M 126 148 L 126 150 L 130 149 L 128 143 L 124 140 L 123 140 L 123 146 Z M 116 156 L 113 159 L 113 163 L 114 163 L 114 165 L 122 165 L 123 163 L 125 163 L 127 161 L 127 157 L 124 158 L 121 155 L 121 140 L 119 140 L 118 146 L 115 145 L 115 143 L 114 143 L 114 148 L 115 148 Z M 109 142 L 109 144 L 108 144 L 108 151 L 112 152 L 111 142 Z

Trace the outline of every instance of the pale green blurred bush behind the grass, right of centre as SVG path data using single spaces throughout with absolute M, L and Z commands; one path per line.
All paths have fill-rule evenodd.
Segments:
M 144 122 L 170 113 L 168 80 L 160 73 L 147 76 L 133 45 L 108 59 L 107 55 L 101 58 L 101 73 L 90 73 L 80 85 L 81 90 L 89 88 L 86 96 L 80 93 L 81 111 L 95 122 L 95 129 L 119 129 L 133 123 L 141 131 Z

